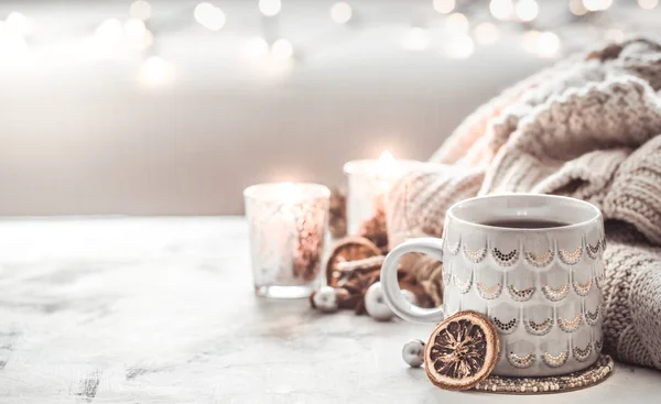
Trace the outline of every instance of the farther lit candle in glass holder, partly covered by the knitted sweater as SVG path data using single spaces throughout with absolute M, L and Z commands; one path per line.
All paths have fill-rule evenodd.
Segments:
M 386 194 L 407 168 L 419 163 L 413 160 L 395 160 L 389 151 L 383 151 L 378 160 L 354 160 L 344 165 L 348 181 L 349 234 L 365 236 L 367 227 L 378 227 L 386 231 Z M 386 249 L 387 240 L 383 242 L 384 245 L 378 247 Z

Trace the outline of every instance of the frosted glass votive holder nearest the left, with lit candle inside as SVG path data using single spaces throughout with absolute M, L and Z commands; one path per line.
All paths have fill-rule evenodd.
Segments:
M 243 190 L 258 296 L 308 297 L 318 286 L 329 196 L 327 187 L 308 183 Z

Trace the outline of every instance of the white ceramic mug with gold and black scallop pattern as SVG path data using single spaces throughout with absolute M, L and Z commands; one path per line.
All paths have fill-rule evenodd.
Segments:
M 511 228 L 494 221 L 555 221 Z M 452 206 L 443 239 L 395 247 L 381 269 L 386 301 L 410 321 L 442 321 L 459 310 L 489 317 L 500 353 L 494 374 L 543 376 L 593 364 L 603 346 L 602 212 L 583 200 L 551 195 L 476 197 Z M 409 252 L 443 262 L 443 306 L 421 308 L 399 290 L 397 269 Z

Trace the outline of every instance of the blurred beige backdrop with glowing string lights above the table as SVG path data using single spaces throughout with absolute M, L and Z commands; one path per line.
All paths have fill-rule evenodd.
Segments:
M 243 187 L 427 159 L 658 0 L 3 1 L 0 215 L 242 212 Z

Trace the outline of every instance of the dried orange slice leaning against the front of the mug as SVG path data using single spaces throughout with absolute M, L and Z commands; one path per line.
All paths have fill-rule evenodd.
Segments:
M 498 334 L 491 321 L 475 312 L 459 312 L 430 336 L 424 368 L 436 386 L 468 390 L 491 373 L 498 350 Z

